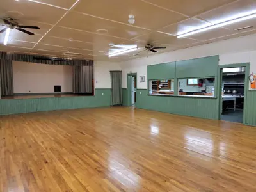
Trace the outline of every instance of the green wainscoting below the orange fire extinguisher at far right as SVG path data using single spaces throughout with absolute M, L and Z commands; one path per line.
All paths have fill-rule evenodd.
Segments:
M 244 111 L 246 125 L 256 126 L 256 91 L 247 92 L 246 111 Z

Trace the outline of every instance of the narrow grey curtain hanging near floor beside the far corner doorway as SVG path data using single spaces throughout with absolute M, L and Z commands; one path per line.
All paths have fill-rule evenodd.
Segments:
M 122 71 L 111 71 L 111 106 L 123 104 L 122 99 Z

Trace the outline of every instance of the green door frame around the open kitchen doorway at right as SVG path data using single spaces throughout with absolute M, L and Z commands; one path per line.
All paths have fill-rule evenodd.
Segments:
M 218 65 L 218 119 L 221 119 L 221 108 L 222 108 L 222 69 L 223 68 L 233 68 L 233 67 L 245 67 L 245 79 L 244 79 L 244 111 L 243 111 L 243 124 L 245 125 L 246 119 L 246 107 L 247 107 L 247 95 L 249 91 L 249 79 L 248 76 L 250 74 L 250 63 L 234 63 L 234 64 L 227 64 L 227 65 Z

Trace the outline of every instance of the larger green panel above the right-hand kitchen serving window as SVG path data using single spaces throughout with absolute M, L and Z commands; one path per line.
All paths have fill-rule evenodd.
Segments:
M 198 58 L 176 62 L 176 77 L 215 77 L 218 76 L 219 56 Z

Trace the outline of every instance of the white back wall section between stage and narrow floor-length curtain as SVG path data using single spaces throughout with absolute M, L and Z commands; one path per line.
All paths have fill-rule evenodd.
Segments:
M 111 70 L 121 70 L 120 64 L 105 61 L 94 62 L 95 88 L 111 88 L 109 73 Z

